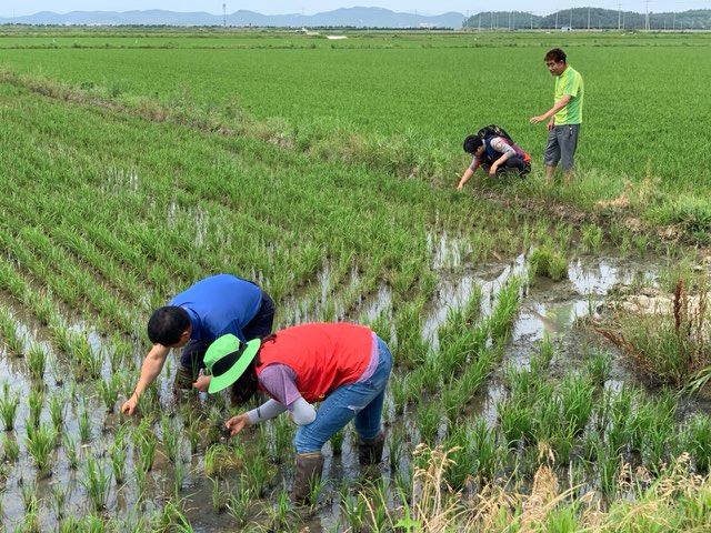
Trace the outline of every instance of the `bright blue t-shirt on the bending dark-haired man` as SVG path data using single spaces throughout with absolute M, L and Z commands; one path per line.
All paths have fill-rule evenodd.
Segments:
M 232 333 L 244 342 L 242 329 L 254 318 L 261 303 L 259 285 L 236 275 L 218 274 L 200 280 L 168 305 L 188 311 L 192 322 L 191 340 L 212 342 Z

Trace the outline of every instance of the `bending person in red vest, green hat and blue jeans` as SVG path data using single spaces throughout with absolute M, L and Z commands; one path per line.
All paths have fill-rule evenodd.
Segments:
M 381 461 L 381 414 L 392 355 L 369 328 L 302 324 L 247 343 L 228 334 L 210 345 L 204 362 L 212 375 L 208 392 L 231 388 L 231 396 L 243 402 L 258 389 L 271 396 L 228 420 L 232 435 L 284 411 L 299 425 L 294 501 L 308 500 L 310 480 L 320 476 L 323 467 L 323 444 L 353 419 L 359 462 Z M 318 410 L 314 403 L 320 403 Z

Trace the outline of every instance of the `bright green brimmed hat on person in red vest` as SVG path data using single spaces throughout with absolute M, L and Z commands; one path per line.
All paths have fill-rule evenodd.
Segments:
M 204 365 L 212 374 L 208 392 L 219 392 L 239 380 L 257 355 L 260 344 L 259 339 L 240 342 L 231 333 L 218 338 L 210 344 L 204 353 Z

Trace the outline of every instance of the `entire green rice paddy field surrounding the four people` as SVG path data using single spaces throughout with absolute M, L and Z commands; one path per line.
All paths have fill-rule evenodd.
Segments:
M 323 37 L 0 29 L 0 529 L 710 531 L 711 36 Z M 553 47 L 569 187 L 528 122 Z M 533 172 L 460 193 L 492 122 Z M 227 438 L 172 355 L 118 412 L 152 310 L 220 272 L 389 343 L 381 465 L 349 426 L 293 505 L 291 421 Z

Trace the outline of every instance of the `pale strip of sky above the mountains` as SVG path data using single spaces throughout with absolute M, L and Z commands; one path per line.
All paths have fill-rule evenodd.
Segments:
M 569 8 L 604 8 L 624 11 L 650 12 L 685 11 L 689 9 L 711 9 L 711 0 L 509 0 L 491 3 L 482 0 L 0 0 L 0 17 L 20 17 L 38 11 L 67 13 L 70 11 L 132 11 L 164 9 L 169 11 L 206 11 L 221 14 L 222 4 L 227 12 L 240 9 L 264 14 L 303 13 L 313 14 L 338 8 L 356 6 L 385 8 L 398 12 L 440 14 L 457 11 L 475 14 L 480 11 L 517 10 L 548 14 Z

